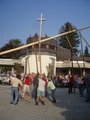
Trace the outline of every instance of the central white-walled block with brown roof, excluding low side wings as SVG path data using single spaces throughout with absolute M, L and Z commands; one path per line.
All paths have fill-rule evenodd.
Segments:
M 42 39 L 48 38 L 48 36 Z M 35 34 L 32 38 L 27 40 L 28 43 L 38 41 L 39 37 Z M 68 49 L 61 48 L 57 45 L 56 40 L 49 40 L 41 43 L 41 69 L 42 73 L 56 74 L 56 61 L 59 56 L 65 55 L 66 59 L 70 58 L 70 51 Z M 21 52 L 21 62 L 25 66 L 24 72 L 40 72 L 40 60 L 39 60 L 39 45 L 30 46 L 27 49 L 23 49 Z

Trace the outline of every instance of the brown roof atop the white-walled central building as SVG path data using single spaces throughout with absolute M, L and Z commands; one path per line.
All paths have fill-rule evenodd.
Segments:
M 46 39 L 46 38 L 49 38 L 49 37 L 48 36 L 42 37 L 42 39 Z M 35 34 L 33 37 L 28 38 L 28 43 L 27 44 L 32 43 L 32 42 L 36 42 L 36 41 L 38 41 L 38 39 L 39 39 L 39 36 L 37 34 Z M 55 53 L 56 57 L 57 57 L 57 60 L 70 59 L 70 50 L 60 47 L 57 44 L 57 40 L 52 39 L 52 40 L 49 40 L 49 41 L 42 42 L 41 44 L 42 45 L 53 46 L 53 48 L 56 47 L 56 49 L 55 48 L 52 49 L 52 47 L 50 47 L 50 48 L 41 48 L 41 50 L 42 50 L 42 52 Z M 28 47 L 26 49 L 22 49 L 21 54 L 24 55 L 24 54 L 27 53 L 27 51 L 32 52 L 33 50 L 35 51 L 35 49 L 33 49 L 32 47 Z M 37 51 L 38 51 L 38 48 L 37 48 Z

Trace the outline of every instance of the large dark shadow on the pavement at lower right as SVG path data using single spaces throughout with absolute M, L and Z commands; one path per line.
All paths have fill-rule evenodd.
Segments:
M 90 120 L 90 103 L 85 103 L 86 92 L 80 97 L 78 90 L 75 94 L 68 94 L 68 89 L 56 90 L 57 103 L 60 114 L 65 120 Z

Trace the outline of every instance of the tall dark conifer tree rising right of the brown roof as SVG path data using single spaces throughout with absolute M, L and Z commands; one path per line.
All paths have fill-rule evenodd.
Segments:
M 61 29 L 59 30 L 59 34 L 68 32 L 74 29 L 77 29 L 77 28 L 73 26 L 71 23 L 67 22 L 61 27 Z M 67 38 L 70 43 L 68 42 Z M 71 49 L 70 47 L 70 44 L 71 44 L 73 51 L 75 53 L 78 52 L 78 47 L 80 44 L 80 36 L 78 32 L 73 32 L 73 33 L 67 34 L 66 36 L 61 36 L 58 40 L 59 40 L 60 46 L 67 49 Z

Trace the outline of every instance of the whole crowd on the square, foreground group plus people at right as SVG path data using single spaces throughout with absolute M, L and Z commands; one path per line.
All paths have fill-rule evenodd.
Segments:
M 80 75 L 66 75 L 64 79 L 68 83 L 68 94 L 76 92 L 78 88 L 79 94 L 83 97 L 84 90 L 86 89 L 86 100 L 90 102 L 90 74 L 85 76 Z M 45 97 L 49 98 L 48 90 L 51 91 L 51 101 L 56 103 L 55 90 L 57 81 L 61 82 L 63 77 L 61 75 L 47 77 L 45 74 L 31 73 L 28 75 L 15 75 L 11 77 L 11 104 L 17 104 L 19 102 L 19 93 L 24 99 L 29 96 L 28 99 L 34 99 L 35 105 L 39 102 L 44 105 Z

